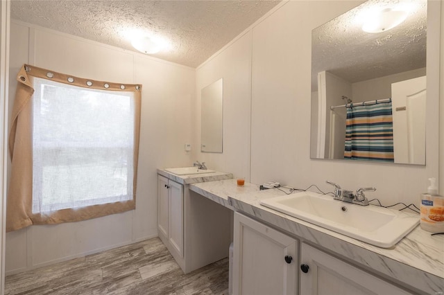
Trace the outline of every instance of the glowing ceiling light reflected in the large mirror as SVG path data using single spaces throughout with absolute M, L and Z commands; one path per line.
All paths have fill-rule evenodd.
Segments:
M 362 30 L 367 33 L 382 33 L 395 28 L 407 19 L 409 12 L 400 8 L 384 8 L 373 11 L 366 17 Z

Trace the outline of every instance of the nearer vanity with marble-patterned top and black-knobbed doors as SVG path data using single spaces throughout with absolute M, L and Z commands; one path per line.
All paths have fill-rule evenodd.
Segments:
M 278 189 L 233 179 L 189 189 L 236 211 L 233 294 L 443 294 L 442 235 L 417 226 L 384 249 L 260 204 L 284 195 Z

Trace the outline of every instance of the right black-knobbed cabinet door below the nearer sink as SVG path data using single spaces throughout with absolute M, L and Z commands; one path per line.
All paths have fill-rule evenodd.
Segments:
M 300 293 L 314 294 L 410 294 L 358 267 L 302 243 Z M 307 269 L 308 266 L 308 269 Z

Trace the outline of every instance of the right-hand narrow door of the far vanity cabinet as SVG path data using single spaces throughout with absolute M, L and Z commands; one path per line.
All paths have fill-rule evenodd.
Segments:
M 169 181 L 169 242 L 183 257 L 183 186 Z

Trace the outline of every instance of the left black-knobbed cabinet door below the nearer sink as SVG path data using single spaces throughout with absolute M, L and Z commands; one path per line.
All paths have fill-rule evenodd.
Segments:
M 297 248 L 297 240 L 234 213 L 233 293 L 296 294 Z

